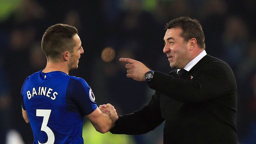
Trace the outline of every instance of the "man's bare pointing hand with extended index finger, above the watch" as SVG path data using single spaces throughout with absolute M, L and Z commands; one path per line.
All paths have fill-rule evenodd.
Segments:
M 128 78 L 132 78 L 136 81 L 145 81 L 145 73 L 150 71 L 142 62 L 136 61 L 130 58 L 120 58 L 119 61 L 126 62 L 128 64 L 125 65 L 127 69 L 126 76 Z

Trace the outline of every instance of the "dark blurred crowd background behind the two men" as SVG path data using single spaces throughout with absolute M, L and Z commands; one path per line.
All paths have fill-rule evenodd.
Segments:
M 118 59 L 134 58 L 152 70 L 171 71 L 163 53 L 164 27 L 180 16 L 198 19 L 206 52 L 233 69 L 239 141 L 255 144 L 255 0 L 0 0 L 0 144 L 33 141 L 22 118 L 20 89 L 27 76 L 45 67 L 41 38 L 49 26 L 64 23 L 78 29 L 84 54 L 70 75 L 88 82 L 98 106 L 111 103 L 121 115 L 147 104 L 154 91 L 128 79 Z M 144 135 L 112 135 L 96 132 L 85 119 L 83 135 L 85 143 L 158 144 L 163 124 Z

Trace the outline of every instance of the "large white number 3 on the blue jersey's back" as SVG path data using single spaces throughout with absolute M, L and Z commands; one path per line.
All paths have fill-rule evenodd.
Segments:
M 47 134 L 48 140 L 46 143 L 43 144 L 53 144 L 55 137 L 54 134 L 52 132 L 52 130 L 47 126 L 48 121 L 49 121 L 49 117 L 51 114 L 52 110 L 46 110 L 46 109 L 37 109 L 36 110 L 36 116 L 42 116 L 43 118 L 43 123 L 41 126 L 41 131 L 44 131 Z M 39 144 L 42 144 L 38 141 Z

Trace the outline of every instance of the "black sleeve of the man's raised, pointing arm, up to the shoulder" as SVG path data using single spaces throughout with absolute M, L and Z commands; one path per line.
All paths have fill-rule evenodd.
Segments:
M 208 63 L 192 80 L 174 78 L 155 71 L 149 87 L 181 102 L 200 103 L 235 93 L 236 81 L 224 62 Z

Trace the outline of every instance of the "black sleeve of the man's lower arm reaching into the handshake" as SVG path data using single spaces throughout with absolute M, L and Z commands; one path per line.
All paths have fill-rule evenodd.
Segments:
M 163 121 L 159 107 L 159 95 L 155 92 L 148 104 L 142 109 L 119 116 L 110 132 L 128 135 L 145 134 L 154 130 Z

